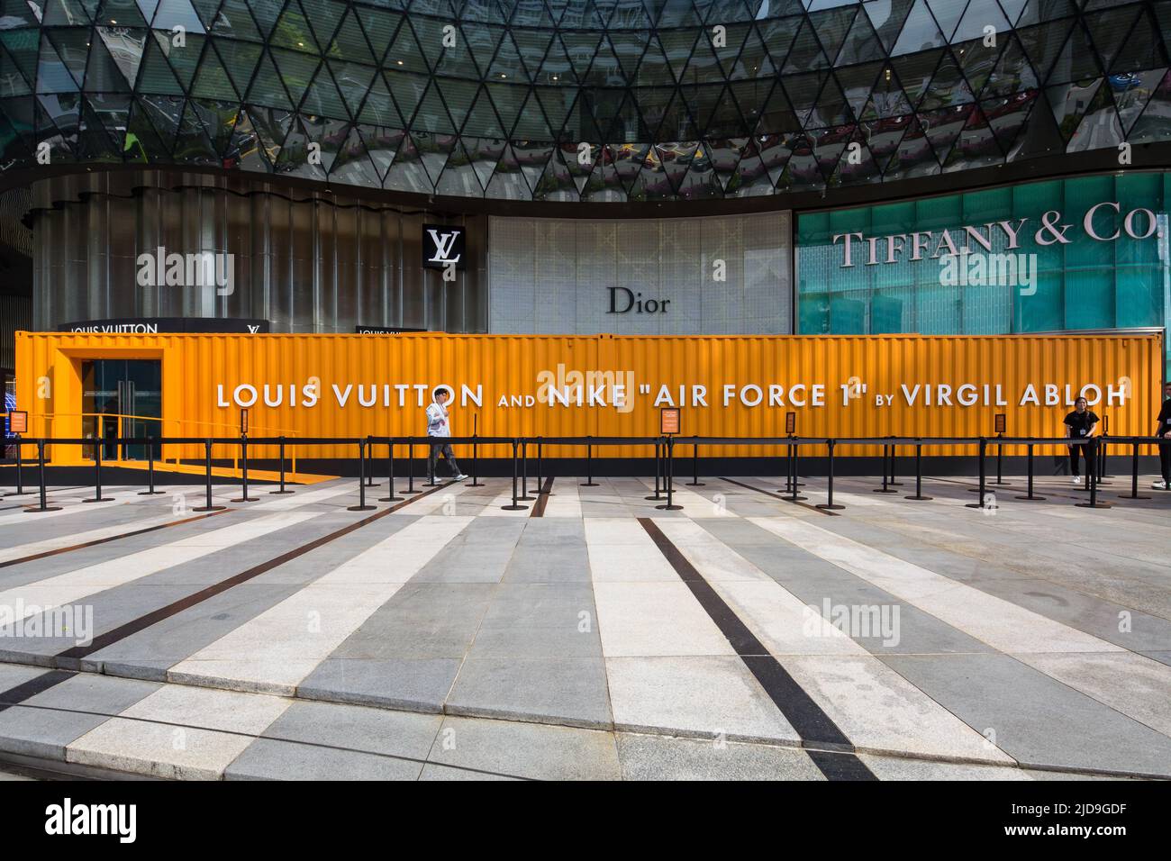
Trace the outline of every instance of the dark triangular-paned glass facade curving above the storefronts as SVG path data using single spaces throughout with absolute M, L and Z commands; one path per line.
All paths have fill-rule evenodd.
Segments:
M 1171 139 L 1171 1 L 2 0 L 0 163 L 559 201 Z

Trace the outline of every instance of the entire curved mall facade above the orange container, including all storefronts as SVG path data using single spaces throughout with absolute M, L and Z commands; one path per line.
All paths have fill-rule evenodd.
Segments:
M 0 12 L 0 281 L 37 329 L 1171 316 L 1171 0 Z

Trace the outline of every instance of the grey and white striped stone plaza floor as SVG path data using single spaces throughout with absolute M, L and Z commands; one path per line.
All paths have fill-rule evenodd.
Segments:
M 0 499 L 0 778 L 1171 777 L 1149 478 L 377 480 Z

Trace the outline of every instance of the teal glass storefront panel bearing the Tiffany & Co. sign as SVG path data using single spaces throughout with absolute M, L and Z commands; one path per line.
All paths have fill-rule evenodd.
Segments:
M 1164 328 L 1169 209 L 1136 172 L 801 214 L 799 332 Z

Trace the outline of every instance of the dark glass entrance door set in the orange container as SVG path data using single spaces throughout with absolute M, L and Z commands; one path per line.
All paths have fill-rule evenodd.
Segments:
M 163 364 L 150 358 L 97 358 L 82 362 L 83 433 L 103 440 L 159 436 L 163 432 Z M 102 457 L 118 457 L 118 445 L 103 442 Z M 93 446 L 87 456 L 93 458 Z M 159 456 L 158 445 L 155 457 Z M 123 460 L 144 460 L 145 443 L 123 444 Z

